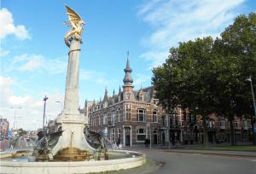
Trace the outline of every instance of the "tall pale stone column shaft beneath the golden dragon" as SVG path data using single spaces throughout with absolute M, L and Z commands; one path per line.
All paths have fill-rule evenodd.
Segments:
M 69 38 L 70 51 L 68 52 L 67 79 L 64 100 L 64 114 L 79 114 L 79 53 L 81 38 Z

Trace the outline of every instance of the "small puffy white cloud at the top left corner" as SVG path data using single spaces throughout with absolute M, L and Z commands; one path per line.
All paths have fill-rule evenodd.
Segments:
M 15 37 L 20 40 L 24 40 L 26 38 L 31 39 L 31 36 L 25 26 L 15 26 L 13 14 L 11 14 L 8 9 L 0 9 L 0 28 L 0 40 L 10 34 L 14 34 Z

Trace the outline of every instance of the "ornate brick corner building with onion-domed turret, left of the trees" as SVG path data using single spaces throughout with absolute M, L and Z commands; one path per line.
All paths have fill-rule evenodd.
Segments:
M 154 87 L 134 90 L 132 69 L 127 58 L 122 90 L 105 95 L 100 102 L 85 102 L 84 114 L 89 118 L 90 130 L 102 132 L 109 142 L 118 140 L 123 146 L 143 144 L 148 139 L 152 144 L 163 144 L 168 137 L 166 112 L 154 98 Z

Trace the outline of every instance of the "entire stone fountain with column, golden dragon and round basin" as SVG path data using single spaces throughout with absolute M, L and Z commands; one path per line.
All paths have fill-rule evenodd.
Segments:
M 103 136 L 90 131 L 88 118 L 79 113 L 79 52 L 85 22 L 73 9 L 66 9 L 67 25 L 72 29 L 65 36 L 69 48 L 67 79 L 64 109 L 56 118 L 57 131 L 49 133 L 44 127 L 32 153 L 11 154 L 22 156 L 21 160 L 1 159 L 1 173 L 89 173 L 145 163 L 145 154 L 107 150 Z

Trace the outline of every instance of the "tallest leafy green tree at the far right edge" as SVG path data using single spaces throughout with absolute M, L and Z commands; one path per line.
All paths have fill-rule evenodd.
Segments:
M 256 14 L 236 17 L 214 46 L 222 64 L 218 72 L 218 112 L 230 120 L 231 142 L 235 144 L 234 116 L 251 115 L 252 127 L 255 121 L 252 94 L 245 79 L 252 76 L 256 81 Z M 253 144 L 256 144 L 255 134 Z

